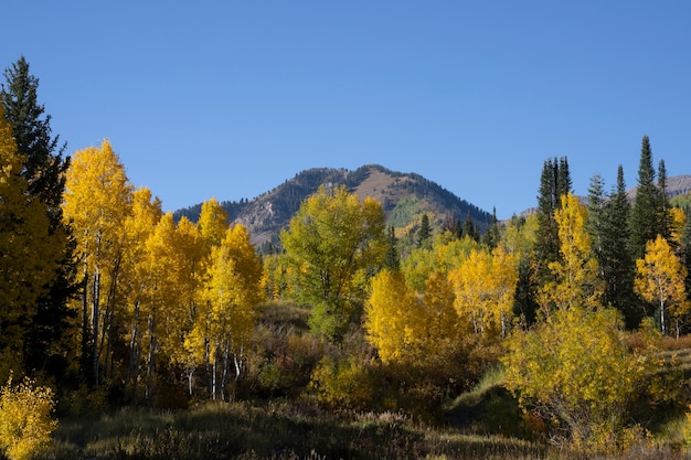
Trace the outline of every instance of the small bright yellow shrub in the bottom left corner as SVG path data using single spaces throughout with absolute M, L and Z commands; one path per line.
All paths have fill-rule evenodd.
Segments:
M 54 406 L 51 388 L 29 378 L 13 387 L 10 376 L 0 392 L 0 448 L 10 460 L 29 459 L 50 441 L 57 428 Z

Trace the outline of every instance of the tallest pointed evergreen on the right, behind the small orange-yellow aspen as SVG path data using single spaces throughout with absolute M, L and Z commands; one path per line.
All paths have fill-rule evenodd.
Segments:
M 650 139 L 644 136 L 638 167 L 638 189 L 630 216 L 630 249 L 634 259 L 646 254 L 646 243 L 653 240 L 660 232 L 659 191 L 655 185 Z

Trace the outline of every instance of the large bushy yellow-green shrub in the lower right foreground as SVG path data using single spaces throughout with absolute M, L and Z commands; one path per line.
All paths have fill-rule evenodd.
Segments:
M 639 333 L 650 335 L 650 331 Z M 623 441 L 628 405 L 645 389 L 655 366 L 652 346 L 631 352 L 620 315 L 613 309 L 563 309 L 529 332 L 515 330 L 504 356 L 506 385 L 524 407 L 566 425 L 572 439 L 599 450 Z M 602 435 L 602 434 L 600 434 Z

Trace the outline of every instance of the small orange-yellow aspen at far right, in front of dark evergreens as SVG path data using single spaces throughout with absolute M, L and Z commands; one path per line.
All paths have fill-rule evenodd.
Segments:
M 680 318 L 689 312 L 684 279 L 687 268 L 661 235 L 646 244 L 646 255 L 636 260 L 634 290 L 660 311 L 660 329 L 667 333 L 667 310 Z

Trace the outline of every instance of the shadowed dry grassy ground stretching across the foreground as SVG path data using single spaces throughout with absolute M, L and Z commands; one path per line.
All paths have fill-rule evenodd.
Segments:
M 266 331 L 306 333 L 307 311 L 284 303 L 261 310 Z M 688 378 L 691 338 L 667 340 L 669 370 Z M 39 459 L 576 459 L 531 440 L 514 398 L 492 371 L 459 395 L 432 426 L 402 414 L 320 409 L 309 397 L 203 403 L 189 409 L 120 408 L 65 416 Z M 682 379 L 683 382 L 683 379 Z M 684 407 L 657 408 L 653 448 L 623 459 L 678 459 Z M 658 448 L 655 448 L 658 446 Z M 691 457 L 690 457 L 691 458 Z

